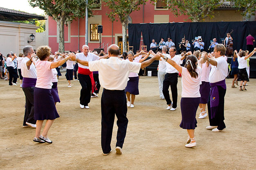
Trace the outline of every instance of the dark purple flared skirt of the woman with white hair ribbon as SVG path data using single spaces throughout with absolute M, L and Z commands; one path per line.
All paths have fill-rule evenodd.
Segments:
M 182 97 L 180 100 L 180 109 L 182 120 L 180 128 L 182 129 L 195 129 L 197 127 L 197 121 L 195 119 L 196 111 L 200 103 L 200 97 L 186 98 Z

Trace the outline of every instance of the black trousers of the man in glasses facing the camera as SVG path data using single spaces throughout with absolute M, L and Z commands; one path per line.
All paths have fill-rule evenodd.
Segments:
M 163 94 L 166 100 L 167 105 L 171 104 L 171 98 L 169 94 L 169 87 L 171 86 L 171 93 L 173 98 L 173 108 L 177 107 L 177 98 L 178 98 L 178 90 L 177 90 L 177 83 L 178 83 L 178 74 L 177 73 L 166 73 L 164 76 L 163 82 Z

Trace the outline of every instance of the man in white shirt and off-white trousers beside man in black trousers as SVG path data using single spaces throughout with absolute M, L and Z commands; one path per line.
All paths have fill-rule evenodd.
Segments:
M 162 48 L 162 54 L 164 56 L 168 56 L 168 54 L 166 54 L 166 51 L 167 51 L 167 47 L 164 46 Z M 165 74 L 166 74 L 166 62 L 160 58 L 159 64 L 158 64 L 158 72 L 157 72 L 160 99 L 164 99 L 163 82 L 164 82 Z

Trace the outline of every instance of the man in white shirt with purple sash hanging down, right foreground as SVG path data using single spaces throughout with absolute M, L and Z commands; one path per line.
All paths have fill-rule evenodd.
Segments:
M 204 56 L 204 59 L 211 64 L 209 82 L 211 86 L 210 100 L 207 103 L 209 123 L 206 128 L 212 132 L 221 132 L 226 129 L 224 123 L 224 97 L 226 94 L 227 61 L 224 58 L 226 48 L 223 44 L 214 47 L 215 59 L 211 55 Z

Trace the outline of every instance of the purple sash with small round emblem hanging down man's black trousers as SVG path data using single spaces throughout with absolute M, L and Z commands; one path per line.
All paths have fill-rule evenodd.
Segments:
M 227 89 L 226 80 L 222 80 L 216 83 L 210 83 L 211 91 L 210 91 L 210 105 L 211 105 L 211 119 L 213 119 L 216 115 L 218 110 L 220 98 L 219 98 L 219 90 L 218 86 L 222 87 L 223 89 Z

